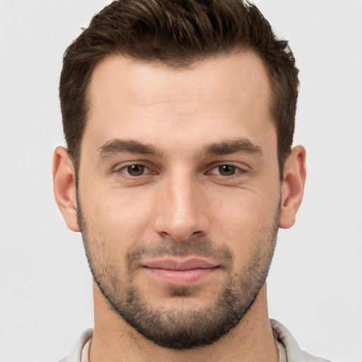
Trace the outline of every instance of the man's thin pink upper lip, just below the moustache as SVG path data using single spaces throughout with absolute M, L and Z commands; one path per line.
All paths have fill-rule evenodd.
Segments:
M 197 257 L 187 259 L 163 258 L 156 259 L 143 264 L 147 268 L 168 269 L 168 270 L 192 270 L 192 269 L 211 269 L 218 267 L 218 264 L 209 262 Z

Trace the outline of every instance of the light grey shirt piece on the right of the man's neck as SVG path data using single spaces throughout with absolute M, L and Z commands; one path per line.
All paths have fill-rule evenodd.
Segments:
M 288 362 L 330 362 L 326 359 L 315 357 L 302 351 L 299 348 L 296 339 L 291 335 L 291 332 L 277 320 L 270 320 L 270 325 L 278 336 L 279 341 L 285 346 Z

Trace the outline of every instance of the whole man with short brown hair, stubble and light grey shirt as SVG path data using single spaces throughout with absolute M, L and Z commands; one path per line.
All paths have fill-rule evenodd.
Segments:
M 323 361 L 269 321 L 303 197 L 298 69 L 246 1 L 119 0 L 66 50 L 54 194 L 94 330 L 63 361 Z

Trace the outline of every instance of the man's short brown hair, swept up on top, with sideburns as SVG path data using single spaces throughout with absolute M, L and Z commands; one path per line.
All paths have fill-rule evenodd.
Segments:
M 253 49 L 267 67 L 282 177 L 293 143 L 298 69 L 288 42 L 279 40 L 259 9 L 243 0 L 117 0 L 93 17 L 66 49 L 59 85 L 64 135 L 76 168 L 88 86 L 100 60 L 121 54 L 186 67 L 235 49 Z

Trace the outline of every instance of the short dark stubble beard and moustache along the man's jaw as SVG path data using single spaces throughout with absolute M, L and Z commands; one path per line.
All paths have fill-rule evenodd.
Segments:
M 263 237 L 259 235 L 255 240 L 257 247 L 250 255 L 249 264 L 238 271 L 233 268 L 235 257 L 230 250 L 225 246 L 216 246 L 207 238 L 182 242 L 163 239 L 151 246 L 140 243 L 129 251 L 126 280 L 118 275 L 119 268 L 117 263 L 112 262 L 112 250 L 107 250 L 107 240 L 95 240 L 91 236 L 80 206 L 78 202 L 78 223 L 95 283 L 119 317 L 159 346 L 181 350 L 214 343 L 243 319 L 267 279 L 276 245 L 280 205 L 274 216 L 274 225 L 262 230 Z M 100 247 L 103 247 L 101 252 Z M 216 288 L 220 291 L 218 298 L 206 308 L 197 305 L 189 308 L 187 298 L 192 296 L 192 287 L 169 286 L 169 296 L 178 298 L 181 307 L 163 309 L 150 305 L 134 283 L 134 267 L 145 255 L 213 256 L 223 261 L 226 277 L 221 291 Z

